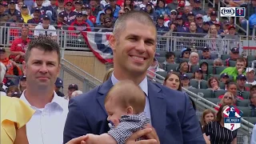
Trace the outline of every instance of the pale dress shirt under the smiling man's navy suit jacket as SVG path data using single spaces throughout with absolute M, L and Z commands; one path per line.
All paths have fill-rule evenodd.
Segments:
M 114 77 L 114 74 L 112 74 L 111 76 L 111 81 L 113 83 L 113 85 L 115 85 L 118 81 L 117 78 Z M 146 117 L 150 118 L 150 122 L 151 122 L 151 114 L 150 114 L 150 101 L 149 101 L 149 92 L 148 92 L 148 86 L 147 86 L 147 78 L 145 77 L 143 79 L 143 81 L 138 85 L 141 87 L 141 89 L 143 90 L 143 92 L 146 94 L 146 106 L 144 109 L 144 112 L 146 113 Z

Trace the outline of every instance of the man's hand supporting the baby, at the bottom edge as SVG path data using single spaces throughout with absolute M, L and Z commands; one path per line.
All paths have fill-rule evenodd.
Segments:
M 145 128 L 143 130 L 138 130 L 136 133 L 132 134 L 130 138 L 126 140 L 126 144 L 158 144 L 158 141 L 156 139 L 150 139 L 150 138 L 154 138 L 153 131 L 154 130 L 152 128 Z M 136 139 L 141 138 L 143 136 L 146 136 L 146 138 L 148 139 L 136 142 Z

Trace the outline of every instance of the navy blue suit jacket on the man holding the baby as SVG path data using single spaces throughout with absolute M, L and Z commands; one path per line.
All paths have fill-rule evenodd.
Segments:
M 86 94 L 71 98 L 63 142 L 85 134 L 110 130 L 104 99 L 113 86 L 111 78 Z M 151 122 L 161 144 L 205 144 L 190 98 L 166 86 L 148 81 Z

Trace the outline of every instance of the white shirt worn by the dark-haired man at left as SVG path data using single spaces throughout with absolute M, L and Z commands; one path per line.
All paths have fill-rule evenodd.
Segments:
M 24 92 L 21 99 L 32 109 L 36 110 L 26 124 L 26 134 L 30 144 L 62 144 L 63 130 L 68 113 L 68 101 L 58 97 L 54 92 L 52 102 L 42 109 L 31 106 L 26 100 Z

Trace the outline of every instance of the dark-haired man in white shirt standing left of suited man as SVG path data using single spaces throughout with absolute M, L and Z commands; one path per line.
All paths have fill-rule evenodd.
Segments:
M 22 68 L 26 75 L 26 90 L 21 99 L 36 110 L 26 124 L 29 143 L 62 144 L 68 102 L 54 91 L 60 70 L 58 43 L 48 37 L 31 41 Z

